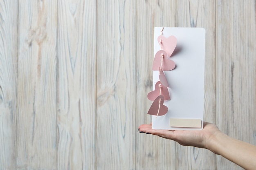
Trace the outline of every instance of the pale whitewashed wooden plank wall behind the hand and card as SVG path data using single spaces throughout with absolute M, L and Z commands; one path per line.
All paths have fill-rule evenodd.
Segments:
M 204 121 L 256 145 L 255 0 L 0 0 L 0 170 L 240 170 L 139 134 L 155 26 L 206 29 Z

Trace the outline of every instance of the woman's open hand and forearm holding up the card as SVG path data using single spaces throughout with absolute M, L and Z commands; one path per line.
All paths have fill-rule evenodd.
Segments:
M 202 130 L 155 130 L 151 124 L 143 124 L 139 126 L 139 132 L 171 139 L 184 146 L 206 148 L 242 168 L 256 169 L 256 146 L 225 135 L 215 124 L 204 122 Z

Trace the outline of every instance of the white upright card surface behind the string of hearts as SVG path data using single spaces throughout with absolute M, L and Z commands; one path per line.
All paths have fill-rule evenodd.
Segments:
M 154 56 L 161 50 L 157 37 L 162 27 L 155 27 Z M 163 36 L 174 35 L 177 46 L 170 59 L 176 64 L 171 71 L 164 71 L 171 100 L 164 101 L 168 112 L 152 116 L 153 129 L 202 130 L 204 117 L 204 53 L 203 28 L 164 27 Z M 153 59 L 152 59 L 153 60 Z M 159 71 L 153 71 L 153 90 L 159 81 Z

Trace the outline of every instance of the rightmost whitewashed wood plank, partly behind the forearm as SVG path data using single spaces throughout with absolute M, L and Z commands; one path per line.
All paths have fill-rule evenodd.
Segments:
M 227 135 L 256 145 L 255 0 L 217 1 L 217 125 Z M 242 169 L 217 157 L 217 169 Z

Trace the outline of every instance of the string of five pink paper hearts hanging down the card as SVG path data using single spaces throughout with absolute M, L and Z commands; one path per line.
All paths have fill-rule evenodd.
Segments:
M 172 35 L 168 38 L 163 36 L 164 27 L 161 30 L 161 35 L 157 38 L 161 50 L 157 51 L 153 61 L 153 70 L 159 71 L 159 81 L 155 84 L 155 90 L 148 93 L 148 99 L 153 101 L 148 110 L 148 115 L 162 116 L 168 111 L 168 107 L 164 106 L 164 100 L 170 100 L 168 88 L 170 87 L 164 71 L 171 71 L 175 68 L 175 62 L 170 60 L 175 47 L 177 46 L 177 39 Z

